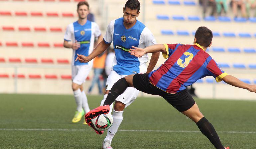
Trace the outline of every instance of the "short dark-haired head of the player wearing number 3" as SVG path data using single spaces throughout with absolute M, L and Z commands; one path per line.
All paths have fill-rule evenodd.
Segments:
M 207 27 L 198 27 L 195 32 L 196 43 L 203 47 L 208 47 L 212 41 L 212 31 Z

